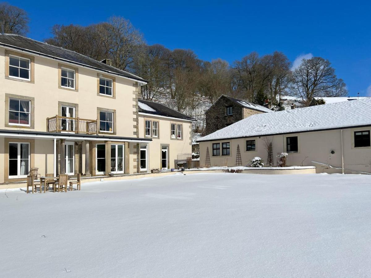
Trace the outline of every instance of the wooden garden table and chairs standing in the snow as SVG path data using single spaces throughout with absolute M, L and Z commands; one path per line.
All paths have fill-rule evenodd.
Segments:
M 41 176 L 37 173 L 39 168 L 32 168 L 30 175 L 27 176 L 27 193 L 29 193 L 29 187 L 32 187 L 32 193 L 36 191 L 37 186 L 40 188 L 40 193 L 44 187 L 44 193 L 49 191 L 50 185 L 53 186 L 54 192 L 67 192 L 67 185 L 69 184 L 69 191 L 73 190 L 73 185 L 76 185 L 76 190 L 81 190 L 81 174 L 77 174 L 77 180 L 68 182 L 68 175 L 54 176 L 54 174 L 46 174 Z

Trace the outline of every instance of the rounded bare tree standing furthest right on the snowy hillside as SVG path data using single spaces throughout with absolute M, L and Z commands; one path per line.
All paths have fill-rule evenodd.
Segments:
M 329 60 L 321 57 L 303 59 L 293 72 L 293 93 L 301 97 L 306 106 L 313 97 L 347 95 L 345 86 L 343 80 L 336 78 Z

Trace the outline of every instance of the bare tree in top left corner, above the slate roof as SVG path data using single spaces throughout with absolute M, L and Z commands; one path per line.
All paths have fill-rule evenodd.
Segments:
M 9 3 L 0 3 L 0 33 L 25 35 L 29 31 L 29 17 L 25 10 Z

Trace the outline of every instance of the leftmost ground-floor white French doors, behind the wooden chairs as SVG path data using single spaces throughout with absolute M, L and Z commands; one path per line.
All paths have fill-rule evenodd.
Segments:
M 9 143 L 9 178 L 27 178 L 30 171 L 30 143 Z

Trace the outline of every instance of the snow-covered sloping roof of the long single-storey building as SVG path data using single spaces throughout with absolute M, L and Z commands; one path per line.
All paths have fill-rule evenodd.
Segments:
M 371 126 L 371 98 L 252 115 L 197 141 Z

